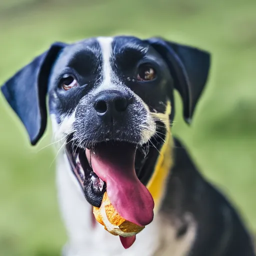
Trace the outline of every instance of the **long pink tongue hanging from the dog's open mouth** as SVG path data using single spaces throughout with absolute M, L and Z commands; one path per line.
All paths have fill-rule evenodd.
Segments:
M 106 182 L 107 195 L 116 211 L 137 225 L 149 224 L 153 219 L 154 202 L 150 192 L 135 173 L 133 145 L 102 144 L 95 152 L 91 152 L 91 156 L 89 153 L 86 149 L 87 158 L 91 157 L 93 171 Z M 120 239 L 121 242 L 125 240 Z M 132 239 L 133 243 L 134 237 L 129 242 Z

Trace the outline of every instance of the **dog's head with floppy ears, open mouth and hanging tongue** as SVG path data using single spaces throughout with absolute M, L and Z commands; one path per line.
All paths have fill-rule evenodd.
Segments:
M 153 217 L 145 186 L 173 119 L 173 90 L 190 122 L 208 68 L 209 54 L 192 47 L 98 37 L 52 44 L 1 89 L 32 144 L 46 126 L 48 94 L 56 140 L 65 141 L 87 201 L 99 206 L 107 190 L 121 216 L 144 225 Z

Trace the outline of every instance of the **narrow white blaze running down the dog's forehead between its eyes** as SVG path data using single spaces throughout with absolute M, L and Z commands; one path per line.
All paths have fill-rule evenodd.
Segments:
M 111 76 L 113 75 L 113 71 L 110 65 L 110 57 L 112 55 L 112 37 L 97 37 L 97 41 L 99 43 L 101 54 L 102 54 L 102 70 L 103 70 L 103 84 L 102 85 L 110 85 L 111 84 Z

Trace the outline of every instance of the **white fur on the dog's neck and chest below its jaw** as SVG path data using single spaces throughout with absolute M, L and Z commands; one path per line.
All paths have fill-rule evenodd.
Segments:
M 57 158 L 56 182 L 60 212 L 67 230 L 68 243 L 64 256 L 152 256 L 159 245 L 157 214 L 154 220 L 137 234 L 136 242 L 124 249 L 118 239 L 98 223 L 91 222 L 91 205 L 86 201 L 69 162 L 61 152 Z

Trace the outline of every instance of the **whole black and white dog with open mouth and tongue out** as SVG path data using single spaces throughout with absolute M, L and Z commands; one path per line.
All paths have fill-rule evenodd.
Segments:
M 189 123 L 209 59 L 160 38 L 57 42 L 1 87 L 33 145 L 45 130 L 48 95 L 54 139 L 63 145 L 57 187 L 69 237 L 64 255 L 254 255 L 236 211 L 171 136 L 173 90 Z M 92 217 L 105 191 L 121 216 L 148 224 L 132 246 L 122 240 L 128 249 Z

